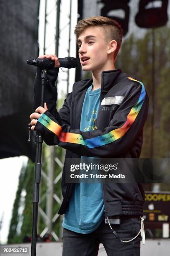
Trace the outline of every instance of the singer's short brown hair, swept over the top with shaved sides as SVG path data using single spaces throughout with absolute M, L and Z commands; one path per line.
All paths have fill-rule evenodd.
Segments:
M 117 57 L 121 43 L 122 43 L 122 28 L 117 21 L 103 16 L 89 17 L 80 20 L 75 26 L 75 35 L 78 38 L 82 31 L 90 26 L 101 26 L 105 28 L 105 32 L 109 41 L 115 40 L 117 42 L 117 49 L 114 52 L 114 60 Z

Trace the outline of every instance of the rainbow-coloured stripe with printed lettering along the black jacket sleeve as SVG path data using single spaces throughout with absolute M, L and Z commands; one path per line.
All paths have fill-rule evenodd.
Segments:
M 128 77 L 130 80 L 140 82 L 138 80 L 135 80 L 131 77 Z M 116 141 L 117 139 L 121 138 L 125 135 L 125 133 L 129 130 L 130 126 L 134 123 L 140 109 L 142 108 L 143 102 L 145 100 L 145 87 L 142 82 L 140 82 L 142 86 L 142 90 L 140 92 L 140 97 L 138 102 L 133 106 L 133 108 L 130 110 L 130 113 L 127 116 L 126 122 L 119 128 L 110 131 L 109 133 L 106 133 L 101 136 L 96 136 L 94 138 L 89 139 L 83 139 L 81 134 L 77 133 L 64 133 L 62 131 L 62 127 L 55 123 L 53 120 L 51 120 L 47 115 L 42 114 L 40 118 L 38 119 L 38 122 L 44 125 L 48 130 L 55 133 L 55 135 L 58 137 L 59 141 L 66 142 L 66 143 L 76 143 L 81 144 L 84 146 L 87 146 L 88 148 L 96 148 L 103 145 L 106 145 L 108 143 L 111 143 L 113 141 Z

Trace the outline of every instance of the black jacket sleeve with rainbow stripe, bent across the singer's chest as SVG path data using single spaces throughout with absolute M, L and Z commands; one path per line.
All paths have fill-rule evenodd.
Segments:
M 35 130 L 42 133 L 48 145 L 58 144 L 81 156 L 113 157 L 122 154 L 132 145 L 148 115 L 145 87 L 138 82 L 134 88 L 103 131 L 73 130 L 67 123 L 61 124 L 49 111 L 40 116 Z

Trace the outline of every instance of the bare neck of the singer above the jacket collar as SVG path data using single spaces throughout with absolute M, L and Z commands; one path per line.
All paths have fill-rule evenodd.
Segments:
M 107 66 L 105 68 L 102 68 L 100 70 L 95 70 L 92 71 L 92 80 L 93 80 L 93 86 L 92 86 L 92 91 L 97 90 L 101 87 L 101 73 L 102 71 L 107 71 L 107 70 L 114 70 L 115 65 L 113 62 L 109 63 L 108 61 Z

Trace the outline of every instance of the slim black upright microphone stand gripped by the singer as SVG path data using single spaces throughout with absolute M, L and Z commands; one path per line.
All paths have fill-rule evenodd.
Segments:
M 44 107 L 44 90 L 47 84 L 47 69 L 41 71 L 41 107 Z M 31 256 L 36 256 L 37 246 L 37 219 L 38 219 L 38 202 L 40 195 L 41 180 L 41 154 L 43 138 L 41 133 L 36 132 L 36 155 L 35 155 L 35 179 L 33 187 L 33 216 L 32 216 L 32 240 L 31 240 Z

